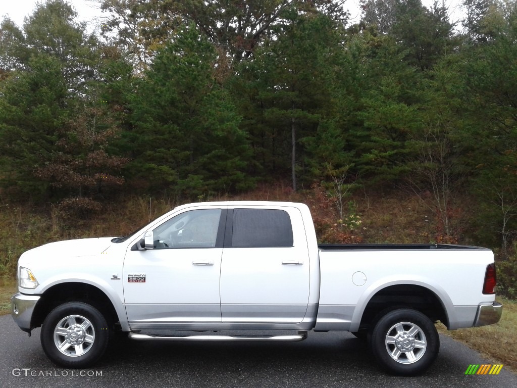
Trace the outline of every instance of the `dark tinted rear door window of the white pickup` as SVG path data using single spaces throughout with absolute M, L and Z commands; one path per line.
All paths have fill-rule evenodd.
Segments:
M 235 209 L 233 247 L 292 247 L 291 217 L 283 210 Z

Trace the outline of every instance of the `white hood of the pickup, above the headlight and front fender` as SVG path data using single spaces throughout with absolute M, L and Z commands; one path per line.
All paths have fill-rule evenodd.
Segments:
M 49 258 L 83 257 L 99 255 L 113 243 L 113 237 L 78 238 L 77 240 L 57 241 L 30 249 L 20 256 L 20 263 L 30 263 Z M 23 265 L 23 264 L 21 264 Z

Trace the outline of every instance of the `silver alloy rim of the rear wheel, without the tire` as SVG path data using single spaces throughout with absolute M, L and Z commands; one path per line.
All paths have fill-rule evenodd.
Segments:
M 425 334 L 414 323 L 394 324 L 386 334 L 386 350 L 393 360 L 401 364 L 413 364 L 420 360 L 426 347 Z

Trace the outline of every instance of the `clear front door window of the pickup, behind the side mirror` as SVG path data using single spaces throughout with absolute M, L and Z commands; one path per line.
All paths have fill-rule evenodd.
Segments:
M 216 246 L 221 209 L 191 210 L 153 230 L 155 249 Z

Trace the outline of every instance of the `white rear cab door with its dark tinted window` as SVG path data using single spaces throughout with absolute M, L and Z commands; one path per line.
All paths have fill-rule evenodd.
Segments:
M 309 254 L 296 207 L 229 206 L 221 261 L 223 323 L 299 323 Z

